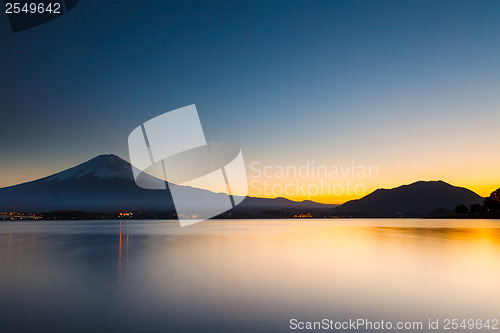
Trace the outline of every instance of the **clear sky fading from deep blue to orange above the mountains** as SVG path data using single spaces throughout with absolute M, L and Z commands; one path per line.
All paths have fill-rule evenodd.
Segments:
M 15 34 L 0 15 L 0 81 L 0 186 L 128 160 L 136 126 L 196 104 L 247 165 L 500 187 L 499 1 L 80 0 Z

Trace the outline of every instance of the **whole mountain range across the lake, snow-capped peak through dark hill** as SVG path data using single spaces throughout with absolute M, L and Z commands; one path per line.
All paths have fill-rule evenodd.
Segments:
M 205 191 L 186 187 L 186 191 Z M 220 195 L 212 193 L 213 195 Z M 233 216 L 425 217 L 450 212 L 456 206 L 482 203 L 483 198 L 443 181 L 419 181 L 393 189 L 378 189 L 345 204 L 326 205 L 286 198 L 247 197 Z M 0 211 L 174 211 L 168 190 L 139 188 L 130 163 L 115 155 L 100 155 L 73 168 L 31 182 L 0 189 Z M 273 212 L 269 215 L 268 212 Z M 238 215 L 240 214 L 240 215 Z

